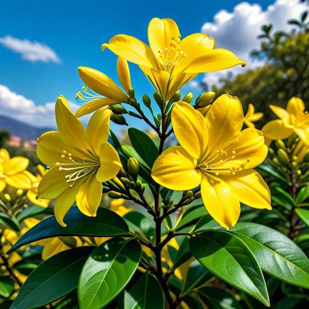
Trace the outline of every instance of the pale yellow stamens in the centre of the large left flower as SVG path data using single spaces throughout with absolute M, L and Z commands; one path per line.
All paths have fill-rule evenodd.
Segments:
M 76 180 L 86 177 L 100 167 L 100 161 L 98 158 L 96 161 L 87 161 L 85 159 L 73 157 L 72 154 L 66 150 L 63 150 L 61 158 L 66 159 L 69 163 L 57 162 L 55 166 L 59 168 L 60 173 L 63 171 L 68 173 L 65 175 L 65 179 L 66 182 L 70 184 L 70 188 Z

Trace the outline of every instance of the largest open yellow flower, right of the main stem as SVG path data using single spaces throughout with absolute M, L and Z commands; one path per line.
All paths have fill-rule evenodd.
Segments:
M 220 96 L 206 118 L 190 104 L 179 101 L 172 109 L 172 125 L 180 146 L 168 148 L 156 160 L 152 178 L 172 190 L 201 185 L 209 214 L 223 227 L 233 226 L 240 202 L 271 209 L 269 189 L 253 170 L 267 155 L 263 134 L 243 126 L 238 98 Z

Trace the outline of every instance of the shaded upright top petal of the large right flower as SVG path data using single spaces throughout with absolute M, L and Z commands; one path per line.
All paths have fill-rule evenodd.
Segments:
M 208 152 L 212 158 L 217 150 L 233 143 L 243 126 L 243 108 L 237 97 L 221 95 L 211 105 L 206 115 L 209 132 Z

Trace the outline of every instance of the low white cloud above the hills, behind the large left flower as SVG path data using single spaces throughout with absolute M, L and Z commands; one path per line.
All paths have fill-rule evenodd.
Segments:
M 68 101 L 73 112 L 80 106 Z M 35 127 L 57 129 L 55 119 L 55 102 L 48 102 L 43 105 L 35 105 L 32 100 L 12 92 L 8 87 L 0 85 L 0 114 L 19 120 Z M 82 121 L 87 122 L 89 117 L 83 117 Z

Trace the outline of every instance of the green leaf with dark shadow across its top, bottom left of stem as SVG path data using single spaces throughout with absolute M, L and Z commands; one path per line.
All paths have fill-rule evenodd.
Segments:
M 114 299 L 134 275 L 141 255 L 141 246 L 135 239 L 112 238 L 97 247 L 80 277 L 80 309 L 99 309 Z

